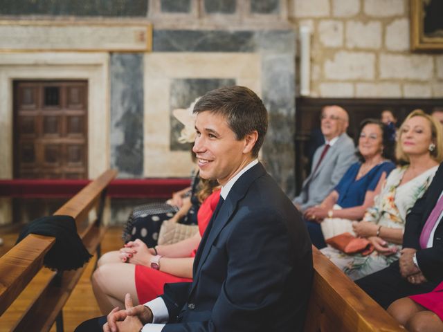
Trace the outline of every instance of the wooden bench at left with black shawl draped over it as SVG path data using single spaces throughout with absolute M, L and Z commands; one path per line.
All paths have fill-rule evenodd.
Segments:
M 80 238 L 91 253 L 100 244 L 102 234 L 105 232 L 100 225 L 102 214 L 100 203 L 103 203 L 106 187 L 116 174 L 114 170 L 106 171 L 55 212 L 57 215 L 73 216 Z M 85 223 L 89 212 L 94 208 L 98 208 L 96 219 Z M 39 272 L 43 266 L 44 255 L 54 243 L 54 237 L 30 234 L 0 257 L 0 315 Z M 45 331 L 50 329 L 73 287 L 80 279 L 82 271 L 83 268 L 79 268 L 66 271 L 61 275 L 54 272 L 51 280 L 35 298 L 33 304 L 28 307 L 13 330 Z

